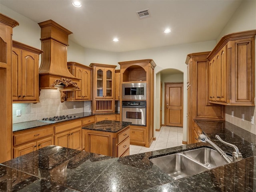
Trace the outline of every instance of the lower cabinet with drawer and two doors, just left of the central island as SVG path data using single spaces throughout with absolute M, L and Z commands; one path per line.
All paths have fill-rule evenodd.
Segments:
M 54 127 L 54 144 L 82 150 L 82 120 L 63 122 Z

